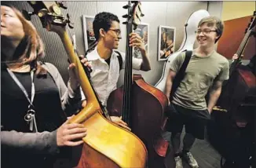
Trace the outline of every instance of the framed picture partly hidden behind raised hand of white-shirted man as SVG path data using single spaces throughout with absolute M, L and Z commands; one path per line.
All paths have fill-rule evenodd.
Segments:
M 144 42 L 145 49 L 148 53 L 149 25 L 141 23 L 141 24 L 137 25 L 137 28 L 134 30 L 134 32 L 141 36 L 142 41 Z M 141 51 L 137 47 L 135 47 L 133 49 L 133 57 L 141 58 Z

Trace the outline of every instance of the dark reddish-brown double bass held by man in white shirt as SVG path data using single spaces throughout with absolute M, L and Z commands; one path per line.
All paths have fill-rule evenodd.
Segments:
M 129 46 L 130 33 L 136 29 L 140 20 L 141 2 L 131 2 L 123 7 L 128 9 L 126 24 L 126 63 L 124 85 L 115 89 L 107 101 L 108 111 L 112 115 L 122 116 L 133 133 L 148 149 L 148 167 L 162 167 L 156 162 L 159 154 L 155 150 L 156 138 L 159 137 L 163 122 L 163 111 L 167 107 L 167 97 L 159 89 L 144 82 L 141 75 L 132 74 L 132 47 Z M 133 27 L 134 26 L 134 27 Z M 120 103 L 120 102 L 123 102 Z M 157 147 L 156 147 L 157 148 Z M 160 166 L 161 164 L 161 166 Z

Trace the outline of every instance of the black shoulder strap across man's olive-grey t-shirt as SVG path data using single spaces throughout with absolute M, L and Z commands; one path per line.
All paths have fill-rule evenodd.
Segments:
M 170 100 L 172 100 L 172 97 L 174 96 L 174 93 L 177 90 L 177 87 L 180 86 L 180 83 L 182 79 L 185 77 L 185 71 L 188 67 L 188 62 L 192 56 L 192 51 L 186 51 L 185 53 L 185 60 L 183 61 L 183 64 L 181 65 L 180 70 L 177 72 L 177 75 L 175 76 L 171 91 L 170 91 Z

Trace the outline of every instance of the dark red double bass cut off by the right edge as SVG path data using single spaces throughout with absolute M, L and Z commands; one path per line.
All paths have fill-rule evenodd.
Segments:
M 217 105 L 214 107 L 214 111 L 225 111 L 226 116 L 228 116 L 228 118 L 225 119 L 225 123 L 223 126 L 223 130 L 225 132 L 225 139 L 221 140 L 224 144 L 227 144 L 225 145 L 225 152 L 228 152 L 225 155 L 225 165 L 229 165 L 229 163 L 232 163 L 232 166 L 238 167 L 241 164 L 240 155 L 245 155 L 245 157 L 247 157 L 247 161 L 246 163 L 243 163 L 243 166 L 250 164 L 250 157 L 251 161 L 254 161 L 251 166 L 256 166 L 256 133 L 253 128 L 256 121 L 256 76 L 252 73 L 252 70 L 250 68 L 240 64 L 243 51 L 247 46 L 249 38 L 251 37 L 251 35 L 254 35 L 254 38 L 256 37 L 255 25 L 256 11 L 254 11 L 254 16 L 251 17 L 251 23 L 248 24 L 245 35 L 243 37 L 243 41 L 240 43 L 240 47 L 236 51 L 238 58 L 234 60 L 234 62 L 232 62 L 229 68 L 229 80 L 223 82 L 221 95 L 218 99 Z M 221 117 L 222 116 L 223 115 L 221 115 Z M 249 128 L 247 127 L 247 129 L 238 129 L 239 127 L 245 127 L 247 125 L 247 122 L 251 122 L 251 128 L 249 126 Z M 232 123 L 236 124 L 232 125 Z M 234 130 L 236 130 L 236 132 Z M 251 140 L 251 138 L 248 138 L 247 136 L 241 136 L 243 135 L 243 131 L 245 130 L 250 130 L 249 132 L 247 131 L 248 134 L 254 134 L 254 140 Z M 232 139 L 233 141 L 231 144 L 229 141 L 230 139 Z M 233 144 L 234 142 L 237 142 L 236 139 L 240 139 L 240 141 L 250 139 L 250 141 L 246 141 L 249 142 L 249 144 L 242 144 L 242 148 L 251 148 L 252 146 L 254 146 L 251 150 L 251 153 L 243 151 L 243 153 L 240 153 L 241 151 L 237 150 L 237 146 L 240 146 L 240 144 Z M 243 160 L 243 162 L 244 161 L 245 160 Z M 221 167 L 225 167 L 225 165 L 222 165 L 221 158 Z

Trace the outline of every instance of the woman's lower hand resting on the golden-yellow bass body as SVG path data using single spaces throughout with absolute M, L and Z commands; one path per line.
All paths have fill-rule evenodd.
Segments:
M 77 146 L 82 144 L 87 130 L 82 124 L 68 123 L 69 119 L 57 129 L 57 146 Z

